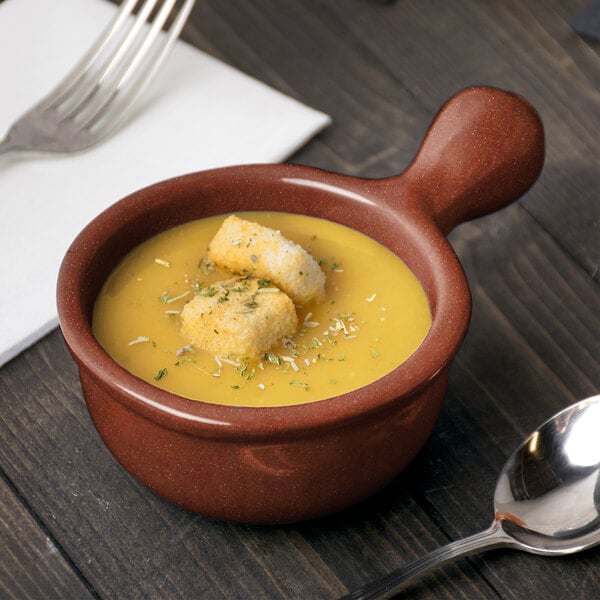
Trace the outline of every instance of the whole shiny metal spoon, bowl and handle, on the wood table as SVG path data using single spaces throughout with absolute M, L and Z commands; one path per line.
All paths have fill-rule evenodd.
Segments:
M 509 547 L 557 556 L 600 544 L 600 395 L 534 431 L 504 465 L 488 529 L 451 542 L 344 596 L 390 598 L 415 577 L 460 556 Z

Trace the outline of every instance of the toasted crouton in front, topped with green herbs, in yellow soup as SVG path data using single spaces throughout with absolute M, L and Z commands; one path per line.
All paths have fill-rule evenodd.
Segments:
M 222 357 L 259 357 L 293 335 L 297 327 L 290 297 L 251 276 L 199 290 L 181 312 L 183 336 L 198 348 Z

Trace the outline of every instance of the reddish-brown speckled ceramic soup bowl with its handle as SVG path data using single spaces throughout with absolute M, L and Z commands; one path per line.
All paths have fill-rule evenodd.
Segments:
M 58 281 L 60 325 L 102 439 L 151 490 L 218 519 L 297 521 L 373 494 L 430 435 L 469 322 L 469 289 L 445 234 L 522 195 L 543 157 L 542 124 L 527 102 L 469 88 L 441 109 L 416 158 L 396 177 L 238 166 L 163 181 L 117 202 L 74 241 Z M 433 322 L 423 344 L 370 385 L 278 408 L 187 400 L 117 365 L 91 329 L 94 301 L 110 271 L 167 228 L 241 210 L 324 217 L 397 253 L 429 298 Z

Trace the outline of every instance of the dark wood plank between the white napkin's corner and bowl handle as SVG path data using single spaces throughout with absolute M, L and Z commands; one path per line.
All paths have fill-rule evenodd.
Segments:
M 392 154 L 405 164 L 416 150 L 427 107 L 365 52 L 362 40 L 334 12 L 337 4 L 344 5 L 204 2 L 197 21 L 202 34 L 192 37 L 235 67 L 332 115 L 332 127 L 310 144 L 316 157 L 301 153 L 303 163 L 383 175 L 377 165 L 385 156 Z M 367 10 L 387 10 L 365 5 Z M 350 15 L 353 10 L 350 6 Z M 203 36 L 210 37 L 210 44 Z

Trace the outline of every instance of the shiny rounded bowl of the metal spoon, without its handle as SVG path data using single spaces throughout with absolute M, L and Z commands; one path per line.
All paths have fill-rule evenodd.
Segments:
M 600 543 L 600 395 L 559 412 L 512 454 L 494 493 L 495 520 L 535 554 Z

